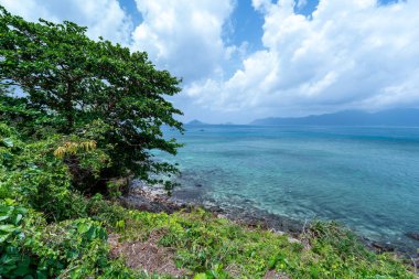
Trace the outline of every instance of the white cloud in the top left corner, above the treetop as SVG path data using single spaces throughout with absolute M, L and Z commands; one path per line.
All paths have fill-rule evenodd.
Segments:
M 92 39 L 103 36 L 125 45 L 130 42 L 132 23 L 118 0 L 0 0 L 0 4 L 29 21 L 68 20 L 88 26 Z

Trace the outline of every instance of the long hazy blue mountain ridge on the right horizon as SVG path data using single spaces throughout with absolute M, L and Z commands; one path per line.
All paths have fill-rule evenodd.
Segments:
M 419 127 L 419 109 L 390 109 L 375 114 L 345 110 L 335 114 L 312 115 L 298 118 L 264 118 L 250 125 L 335 125 L 335 126 L 409 126 Z

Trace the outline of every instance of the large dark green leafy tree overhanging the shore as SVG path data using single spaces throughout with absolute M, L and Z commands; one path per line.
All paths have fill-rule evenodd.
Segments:
M 58 133 L 67 141 L 94 141 L 108 158 L 100 175 L 89 175 L 92 168 L 80 165 L 77 154 L 63 158 L 75 182 L 89 191 L 111 179 L 157 182 L 151 173 L 176 172 L 150 151 L 175 154 L 181 147 L 162 132 L 163 126 L 183 131 L 175 120 L 182 112 L 164 98 L 178 94 L 180 83 L 158 71 L 144 52 L 93 41 L 86 28 L 72 22 L 26 22 L 0 7 L 0 120 L 28 137 Z M 22 90 L 19 97 L 10 94 L 14 88 Z M 46 127 L 47 135 L 39 132 Z

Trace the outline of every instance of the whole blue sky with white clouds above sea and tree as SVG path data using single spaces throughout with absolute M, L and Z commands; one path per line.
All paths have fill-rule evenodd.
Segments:
M 181 120 L 419 108 L 419 0 L 0 0 L 181 77 Z

